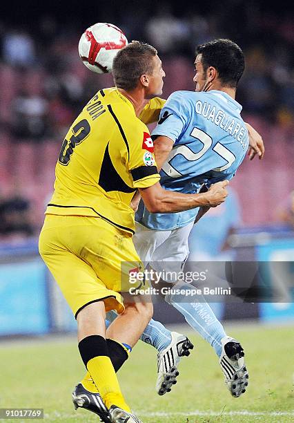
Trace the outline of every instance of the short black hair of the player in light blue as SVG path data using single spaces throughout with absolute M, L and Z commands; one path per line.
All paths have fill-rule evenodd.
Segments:
M 204 71 L 213 66 L 224 86 L 236 87 L 245 68 L 244 54 L 231 39 L 215 39 L 196 48 L 196 55 L 202 55 Z

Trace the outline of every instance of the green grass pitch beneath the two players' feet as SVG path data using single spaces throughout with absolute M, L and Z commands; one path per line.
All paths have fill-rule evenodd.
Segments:
M 190 332 L 195 348 L 179 365 L 173 391 L 159 397 L 154 388 L 156 352 L 139 341 L 120 370 L 119 381 L 144 423 L 294 421 L 293 326 L 244 325 L 226 330 L 246 351 L 250 383 L 239 398 L 231 397 L 224 386 L 213 348 Z M 98 421 L 96 415 L 81 408 L 75 411 L 72 406 L 72 388 L 84 374 L 72 337 L 3 342 L 0 363 L 1 408 L 44 408 L 45 419 L 50 422 Z

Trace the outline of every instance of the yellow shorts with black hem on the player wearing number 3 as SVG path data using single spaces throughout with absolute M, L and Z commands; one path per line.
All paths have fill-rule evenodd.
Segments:
M 124 281 L 131 270 L 143 270 L 132 238 L 101 218 L 48 214 L 39 252 L 75 317 L 101 300 L 106 312 L 124 311 Z

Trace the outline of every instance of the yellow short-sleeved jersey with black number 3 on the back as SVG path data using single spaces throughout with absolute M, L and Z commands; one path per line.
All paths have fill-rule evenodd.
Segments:
M 150 100 L 141 119 L 157 120 L 163 103 Z M 46 214 L 99 216 L 135 232 L 130 201 L 137 188 L 154 185 L 160 176 L 148 128 L 117 88 L 98 91 L 70 126 L 55 176 Z

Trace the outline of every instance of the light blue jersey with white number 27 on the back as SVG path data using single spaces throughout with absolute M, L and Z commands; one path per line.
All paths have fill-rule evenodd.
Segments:
M 222 91 L 176 91 L 170 97 L 152 135 L 175 142 L 160 171 L 161 186 L 195 194 L 203 184 L 235 176 L 248 149 L 242 106 Z M 159 214 L 139 210 L 136 220 L 155 230 L 175 229 L 195 219 L 198 209 Z

